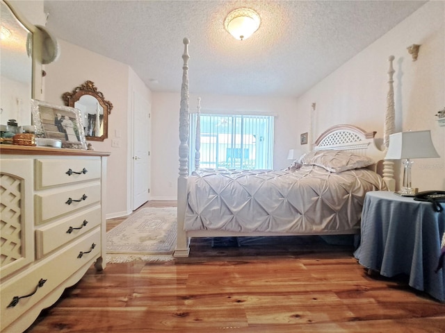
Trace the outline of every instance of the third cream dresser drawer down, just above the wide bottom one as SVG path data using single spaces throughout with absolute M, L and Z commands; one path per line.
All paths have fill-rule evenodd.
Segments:
M 100 224 L 101 208 L 96 205 L 65 219 L 43 225 L 35 230 L 35 256 L 40 259 L 52 250 L 89 232 Z

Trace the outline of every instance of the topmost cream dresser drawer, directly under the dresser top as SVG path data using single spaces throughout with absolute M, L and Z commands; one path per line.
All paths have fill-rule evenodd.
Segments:
M 100 176 L 99 159 L 35 160 L 35 189 L 97 179 Z

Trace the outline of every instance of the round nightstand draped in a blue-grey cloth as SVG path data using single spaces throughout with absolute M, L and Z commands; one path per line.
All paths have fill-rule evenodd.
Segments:
M 371 191 L 365 196 L 361 241 L 354 256 L 386 277 L 408 275 L 411 287 L 444 301 L 444 268 L 435 273 L 444 230 L 445 213 L 435 212 L 431 203 Z

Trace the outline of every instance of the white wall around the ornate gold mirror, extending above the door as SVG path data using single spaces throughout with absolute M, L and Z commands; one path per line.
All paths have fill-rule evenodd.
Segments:
M 108 139 L 104 142 L 89 142 L 96 151 L 111 152 L 108 157 L 108 181 L 106 198 L 106 216 L 122 216 L 131 212 L 129 167 L 131 150 L 129 140 L 129 117 L 131 117 L 131 89 L 149 93 L 133 70 L 121 62 L 100 56 L 74 44 L 58 40 L 60 57 L 56 62 L 45 67 L 45 101 L 63 105 L 62 95 L 72 92 L 86 80 L 95 83 L 97 90 L 104 94 L 104 99 L 113 104 L 108 114 Z M 131 87 L 131 88 L 130 88 Z M 120 138 L 115 138 L 115 131 L 120 131 Z M 120 141 L 120 148 L 111 146 L 112 139 Z

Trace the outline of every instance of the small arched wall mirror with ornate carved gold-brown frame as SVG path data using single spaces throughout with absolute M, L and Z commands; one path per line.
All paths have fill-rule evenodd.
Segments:
M 113 104 L 97 91 L 94 82 L 87 80 L 72 92 L 65 92 L 62 98 L 65 105 L 81 110 L 87 140 L 104 141 L 108 137 L 108 114 Z

